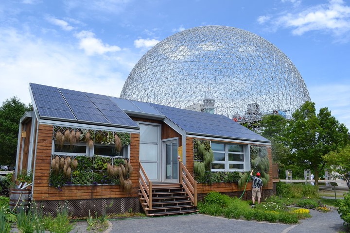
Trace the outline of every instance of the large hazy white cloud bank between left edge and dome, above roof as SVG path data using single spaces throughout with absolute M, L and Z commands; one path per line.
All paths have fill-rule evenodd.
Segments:
M 53 43 L 1 27 L 0 48 L 0 103 L 13 96 L 31 102 L 29 83 L 119 97 L 139 58 L 128 51 L 119 57 L 90 57 L 67 41 Z

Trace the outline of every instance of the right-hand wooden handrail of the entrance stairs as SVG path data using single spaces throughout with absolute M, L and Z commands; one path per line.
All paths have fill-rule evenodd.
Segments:
M 193 179 L 190 172 L 182 162 L 179 162 L 179 165 L 179 181 L 185 188 L 194 206 L 197 206 L 197 181 Z

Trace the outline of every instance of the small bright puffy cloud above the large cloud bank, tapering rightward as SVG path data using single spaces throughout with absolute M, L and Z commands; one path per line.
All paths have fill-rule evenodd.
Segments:
M 101 39 L 95 38 L 95 34 L 89 31 L 81 31 L 80 33 L 76 33 L 75 37 L 80 40 L 79 48 L 85 50 L 85 53 L 89 56 L 122 50 L 118 46 L 104 44 Z

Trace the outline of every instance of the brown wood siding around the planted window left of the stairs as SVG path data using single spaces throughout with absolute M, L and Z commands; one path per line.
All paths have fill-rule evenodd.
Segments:
M 123 191 L 119 185 L 64 186 L 62 191 L 49 186 L 52 153 L 52 125 L 39 125 L 37 150 L 35 155 L 35 182 L 33 200 L 77 200 L 98 198 L 138 197 L 139 142 L 140 135 L 131 133 L 130 163 L 135 172 L 131 176 L 133 183 L 130 192 Z

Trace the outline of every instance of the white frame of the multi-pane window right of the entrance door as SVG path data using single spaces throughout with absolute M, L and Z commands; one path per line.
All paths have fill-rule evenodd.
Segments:
M 245 144 L 238 144 L 238 143 L 225 143 L 225 142 L 219 142 L 219 141 L 210 141 L 211 143 L 216 144 L 224 144 L 224 151 L 221 150 L 213 150 L 215 153 L 225 153 L 225 161 L 218 161 L 214 160 L 213 164 L 224 164 L 225 169 L 213 169 L 211 168 L 211 171 L 248 171 L 250 170 L 250 154 L 249 154 L 249 145 Z M 229 152 L 228 151 L 228 145 L 238 145 L 243 146 L 243 152 Z M 243 154 L 243 161 L 228 161 L 228 154 Z M 230 164 L 243 164 L 243 169 L 229 169 Z

